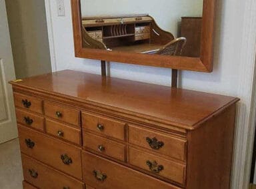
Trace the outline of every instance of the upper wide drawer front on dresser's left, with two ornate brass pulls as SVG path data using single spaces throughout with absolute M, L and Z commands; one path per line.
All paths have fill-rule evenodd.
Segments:
M 81 179 L 81 149 L 23 126 L 18 126 L 21 152 Z

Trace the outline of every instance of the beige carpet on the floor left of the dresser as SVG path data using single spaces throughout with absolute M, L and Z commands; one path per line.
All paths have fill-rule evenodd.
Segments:
M 0 188 L 22 189 L 22 181 L 19 140 L 0 144 Z

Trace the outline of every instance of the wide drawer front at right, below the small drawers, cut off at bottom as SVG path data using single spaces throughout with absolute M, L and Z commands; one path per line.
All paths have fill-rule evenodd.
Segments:
M 178 189 L 178 187 L 121 166 L 89 152 L 82 152 L 83 180 L 97 189 Z

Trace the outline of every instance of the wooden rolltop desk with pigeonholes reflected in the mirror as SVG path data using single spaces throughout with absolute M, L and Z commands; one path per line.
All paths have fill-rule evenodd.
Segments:
M 151 54 L 175 39 L 149 15 L 84 17 L 82 25 L 85 48 Z

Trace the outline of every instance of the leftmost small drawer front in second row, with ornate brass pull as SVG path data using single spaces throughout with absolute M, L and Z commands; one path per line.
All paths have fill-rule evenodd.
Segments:
M 31 128 L 43 131 L 44 118 L 16 108 L 17 122 Z

